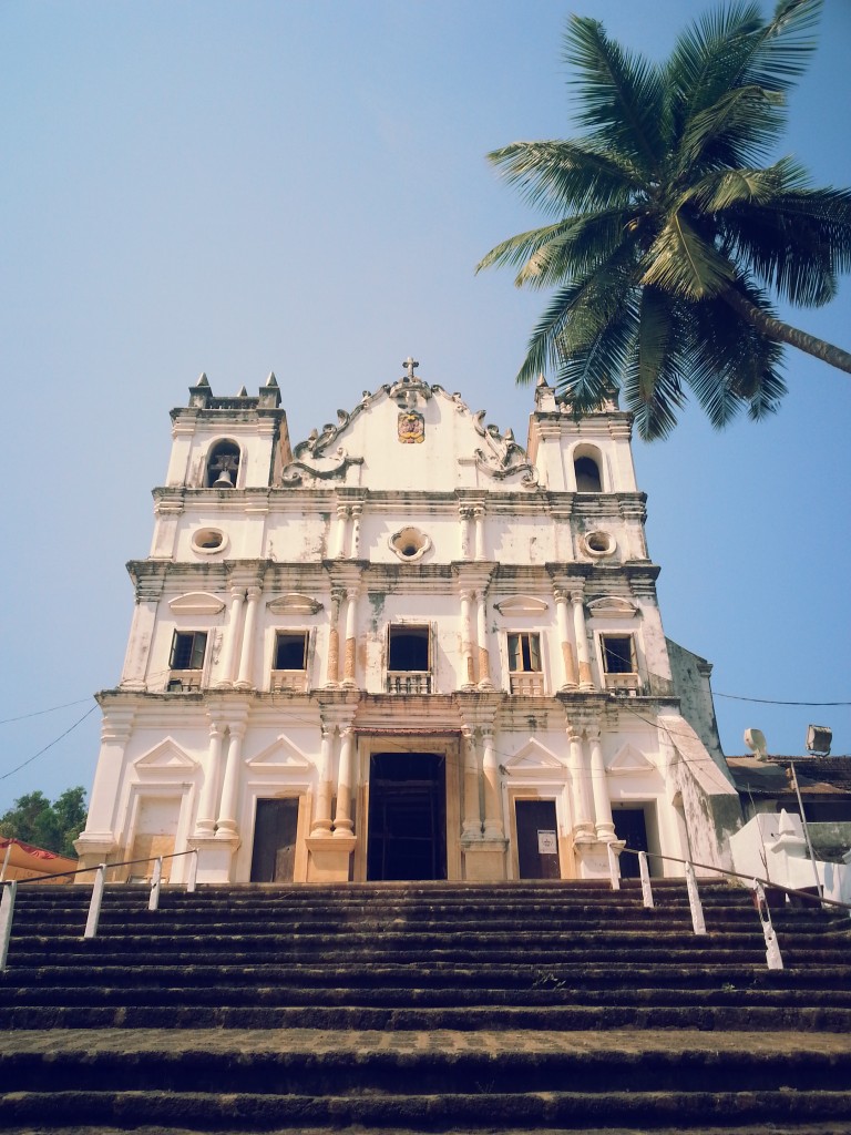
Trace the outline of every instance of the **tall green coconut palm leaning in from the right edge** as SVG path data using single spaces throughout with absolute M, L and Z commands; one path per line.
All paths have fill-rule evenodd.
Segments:
M 575 413 L 618 387 L 647 439 L 690 388 L 715 427 L 774 411 L 782 345 L 851 373 L 851 354 L 777 318 L 770 295 L 819 306 L 851 267 L 851 191 L 815 188 L 791 158 L 761 166 L 785 125 L 820 0 L 780 0 L 766 22 L 736 2 L 698 20 L 652 64 L 571 17 L 565 60 L 582 137 L 489 154 L 554 222 L 478 266 L 519 268 L 556 291 L 519 382 L 554 372 Z

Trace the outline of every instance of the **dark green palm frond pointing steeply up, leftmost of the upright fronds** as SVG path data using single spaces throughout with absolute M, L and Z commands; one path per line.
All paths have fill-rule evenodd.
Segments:
M 595 19 L 571 16 L 565 61 L 575 69 L 581 124 L 644 176 L 662 169 L 667 152 L 662 69 L 610 40 Z

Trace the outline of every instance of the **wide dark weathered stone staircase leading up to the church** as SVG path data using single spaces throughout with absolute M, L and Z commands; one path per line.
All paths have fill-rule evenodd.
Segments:
M 851 922 L 747 891 L 22 886 L 0 1128 L 851 1133 Z

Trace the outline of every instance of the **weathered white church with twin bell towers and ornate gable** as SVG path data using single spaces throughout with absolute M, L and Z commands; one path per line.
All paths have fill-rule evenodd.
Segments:
M 416 367 L 294 447 L 275 376 L 202 376 L 172 411 L 81 866 L 589 878 L 610 843 L 656 875 L 728 865 L 738 798 L 708 667 L 663 632 L 629 414 L 574 418 L 541 382 L 524 449 Z

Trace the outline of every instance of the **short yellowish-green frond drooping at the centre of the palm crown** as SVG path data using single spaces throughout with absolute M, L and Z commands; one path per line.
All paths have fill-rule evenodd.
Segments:
M 726 257 L 698 234 L 683 210 L 677 210 L 650 246 L 641 283 L 683 299 L 702 300 L 722 292 L 734 275 Z

